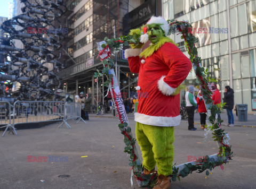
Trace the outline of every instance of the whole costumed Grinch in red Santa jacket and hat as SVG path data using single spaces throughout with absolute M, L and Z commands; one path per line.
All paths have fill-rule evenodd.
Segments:
M 164 18 L 151 17 L 143 31 L 141 44 L 125 50 L 131 72 L 139 73 L 135 133 L 142 152 L 144 174 L 154 173 L 157 165 L 158 182 L 154 188 L 169 188 L 174 126 L 181 120 L 179 85 L 192 65 L 173 40 L 166 37 L 169 24 Z M 141 52 L 148 39 L 150 46 Z

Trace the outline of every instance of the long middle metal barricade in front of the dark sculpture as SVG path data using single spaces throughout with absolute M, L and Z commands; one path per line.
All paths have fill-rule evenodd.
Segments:
M 63 101 L 16 101 L 11 118 L 13 126 L 20 123 L 37 123 L 63 121 L 71 128 L 65 118 L 65 102 Z

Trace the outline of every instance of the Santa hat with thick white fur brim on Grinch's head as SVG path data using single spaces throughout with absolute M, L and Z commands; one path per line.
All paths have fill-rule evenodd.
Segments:
M 147 24 L 153 24 L 153 23 L 158 23 L 158 24 L 162 24 L 160 25 L 160 27 L 162 28 L 162 30 L 164 31 L 164 35 L 167 36 L 167 33 L 169 31 L 169 24 L 168 22 L 162 17 L 162 16 L 152 16 L 151 19 L 146 23 L 145 27 L 143 27 L 143 35 L 140 36 L 140 42 L 142 42 L 142 44 L 146 44 L 146 42 L 148 41 L 148 35 L 147 35 Z

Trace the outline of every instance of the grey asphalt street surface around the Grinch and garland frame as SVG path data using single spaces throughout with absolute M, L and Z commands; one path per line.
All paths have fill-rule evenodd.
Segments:
M 135 122 L 129 121 L 135 134 Z M 18 130 L 18 136 L 6 134 L 0 138 L 0 188 L 139 188 L 134 178 L 131 187 L 129 157 L 123 152 L 125 144 L 117 124 L 115 117 L 90 116 L 86 125 L 70 121 L 71 129 L 58 128 L 56 123 Z M 171 183 L 172 188 L 255 188 L 256 128 L 235 126 L 225 130 L 231 138 L 234 159 L 223 171 L 216 167 L 207 177 L 193 173 Z M 187 162 L 188 156 L 218 152 L 211 136 L 204 141 L 204 131 L 188 131 L 187 123 L 175 127 L 175 139 L 177 165 Z M 34 159 L 28 156 L 37 160 L 47 157 L 47 162 L 28 162 Z M 60 157 L 64 162 L 58 162 Z

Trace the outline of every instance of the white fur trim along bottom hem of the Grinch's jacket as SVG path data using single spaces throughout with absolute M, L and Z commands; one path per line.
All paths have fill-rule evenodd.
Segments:
M 162 117 L 162 116 L 149 116 L 146 114 L 134 113 L 134 120 L 136 122 L 147 124 L 147 125 L 155 125 L 162 127 L 172 127 L 180 124 L 181 116 L 178 115 L 176 117 Z

